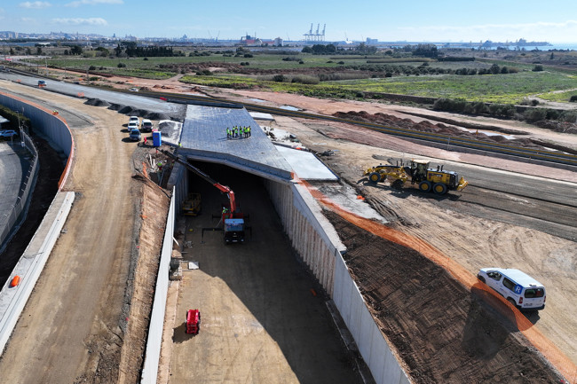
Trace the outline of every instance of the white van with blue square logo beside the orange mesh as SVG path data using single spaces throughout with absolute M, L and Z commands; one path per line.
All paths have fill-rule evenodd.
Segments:
M 545 287 L 525 272 L 515 269 L 483 268 L 477 278 L 501 294 L 518 310 L 543 310 Z

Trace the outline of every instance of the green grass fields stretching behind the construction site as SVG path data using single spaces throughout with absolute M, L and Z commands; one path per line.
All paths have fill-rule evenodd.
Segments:
M 466 55 L 465 55 L 466 56 Z M 283 60 L 291 58 L 291 60 Z M 299 61 L 302 60 L 302 61 Z M 376 61 L 370 64 L 371 61 Z M 371 66 L 386 64 L 396 66 L 419 67 L 423 62 L 430 67 L 443 69 L 488 68 L 494 64 L 500 67 L 515 67 L 516 74 L 483 74 L 483 75 L 400 75 L 384 77 L 383 72 L 367 74 Z M 369 62 L 369 63 L 368 63 Z M 125 67 L 118 67 L 122 63 Z M 194 74 L 195 66 L 227 67 L 225 64 L 241 65 L 252 74 L 231 74 L 219 72 L 209 76 L 188 75 Z M 247 64 L 248 63 L 248 64 Z M 39 62 L 43 65 L 43 61 Z M 513 62 L 507 59 L 476 59 L 475 61 L 436 62 L 431 59 L 394 59 L 386 55 L 378 56 L 323 56 L 311 54 L 260 54 L 254 52 L 253 57 L 233 57 L 222 53 L 211 53 L 209 56 L 170 57 L 170 58 L 73 58 L 60 57 L 49 59 L 48 64 L 56 67 L 75 68 L 86 70 L 93 67 L 93 72 L 107 72 L 153 79 L 166 79 L 185 72 L 181 81 L 199 85 L 225 88 L 260 88 L 265 90 L 295 92 L 305 95 L 327 98 L 358 98 L 362 92 L 395 93 L 403 95 L 422 96 L 430 98 L 464 98 L 468 101 L 483 101 L 502 104 L 516 104 L 524 98 L 538 96 L 551 101 L 568 102 L 569 98 L 577 94 L 577 75 L 574 71 L 555 67 L 545 67 L 544 71 L 534 72 L 534 64 Z M 364 71 L 353 70 L 350 66 L 363 66 Z M 324 68 L 323 71 L 347 72 L 349 78 L 356 80 L 340 80 L 330 82 L 299 83 L 272 82 L 273 74 L 291 74 L 299 70 L 306 73 L 315 68 Z M 331 69 L 332 68 L 332 69 Z M 265 70 L 267 75 L 259 75 L 258 70 Z M 367 78 L 368 76 L 380 76 Z M 346 76 L 341 76 L 346 78 Z

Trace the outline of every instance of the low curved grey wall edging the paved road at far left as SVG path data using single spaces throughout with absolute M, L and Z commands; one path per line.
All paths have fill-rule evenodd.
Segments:
M 0 252 L 4 250 L 4 247 L 12 239 L 12 236 L 16 233 L 20 224 L 28 215 L 28 207 L 30 206 L 30 199 L 32 197 L 32 192 L 34 192 L 34 187 L 36 185 L 36 178 L 38 176 L 38 168 L 40 163 L 38 162 L 38 151 L 36 150 L 36 145 L 32 142 L 32 139 L 28 137 L 26 133 L 22 133 L 24 137 L 24 145 L 28 148 L 28 151 L 32 153 L 33 160 L 28 168 L 28 173 L 24 177 L 24 188 L 20 189 L 20 193 L 12 212 L 7 214 L 7 221 L 0 231 Z

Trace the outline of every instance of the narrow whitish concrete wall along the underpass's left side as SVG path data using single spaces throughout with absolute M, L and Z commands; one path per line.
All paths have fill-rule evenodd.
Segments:
M 150 316 L 148 339 L 144 367 L 140 376 L 140 383 L 154 384 L 158 375 L 158 363 L 161 357 L 162 328 L 164 325 L 164 313 L 166 312 L 166 296 L 169 290 L 170 256 L 172 255 L 172 236 L 175 224 L 175 190 L 172 189 L 169 215 L 166 220 L 166 231 L 162 240 L 161 261 L 156 277 L 156 289 L 154 291 L 153 310 Z

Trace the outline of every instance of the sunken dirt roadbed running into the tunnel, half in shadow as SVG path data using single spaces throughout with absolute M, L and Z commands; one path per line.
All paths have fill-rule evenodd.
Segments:
M 194 177 L 202 193 L 201 216 L 186 221 L 185 271 L 173 326 L 170 383 L 355 383 L 325 306 L 326 297 L 296 260 L 280 219 L 257 176 L 224 166 L 195 164 L 229 185 L 250 215 L 244 245 L 223 244 L 222 232 L 206 232 L 226 197 Z M 312 294 L 311 289 L 315 290 Z M 185 333 L 186 310 L 202 311 L 201 332 Z

